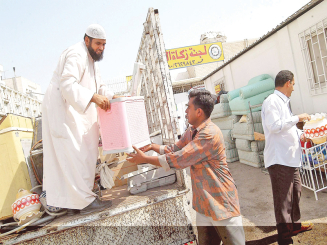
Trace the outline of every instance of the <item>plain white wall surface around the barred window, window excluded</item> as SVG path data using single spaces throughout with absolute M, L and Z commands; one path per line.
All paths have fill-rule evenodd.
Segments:
M 224 77 L 225 89 L 231 91 L 247 85 L 251 78 L 260 74 L 269 74 L 275 78 L 280 70 L 290 70 L 295 76 L 295 91 L 291 98 L 293 113 L 327 112 L 327 94 L 310 94 L 299 39 L 301 32 L 327 18 L 326 9 L 327 1 L 318 4 L 207 78 L 206 88 L 214 92 L 214 82 Z

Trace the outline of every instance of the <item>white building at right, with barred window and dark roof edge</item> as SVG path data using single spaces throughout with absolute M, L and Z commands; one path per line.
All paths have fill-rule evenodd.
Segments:
M 313 0 L 254 44 L 208 74 L 202 81 L 214 92 L 221 83 L 231 91 L 260 74 L 281 70 L 295 76 L 294 114 L 326 112 L 327 1 Z

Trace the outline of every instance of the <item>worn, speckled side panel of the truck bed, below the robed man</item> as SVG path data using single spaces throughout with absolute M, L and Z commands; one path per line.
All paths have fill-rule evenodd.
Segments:
M 186 195 L 158 196 L 139 208 L 111 209 L 3 241 L 4 244 L 183 244 L 195 236 Z M 125 208 L 128 208 L 125 206 Z

